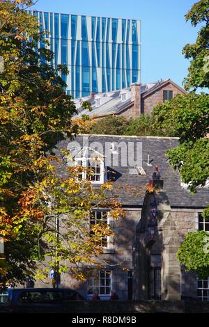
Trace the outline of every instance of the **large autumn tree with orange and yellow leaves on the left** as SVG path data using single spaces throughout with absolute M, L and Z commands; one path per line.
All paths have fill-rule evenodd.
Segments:
M 0 2 L 1 286 L 33 278 L 37 264 L 39 276 L 49 266 L 61 272 L 71 264 L 82 278 L 82 263 L 94 262 L 101 253 L 100 244 L 93 243 L 110 232 L 97 226 L 89 237 L 93 206 L 100 202 L 109 205 L 113 216 L 121 214 L 121 205 L 105 193 L 109 185 L 95 192 L 89 181 L 79 180 L 80 168 L 69 168 L 65 179 L 58 177 L 67 154 L 56 157 L 53 150 L 76 131 L 71 124 L 76 109 L 61 79 L 67 68 L 51 65 L 54 54 L 43 38 L 45 31 L 40 33 L 36 17 L 26 12 L 32 4 Z M 63 223 L 59 238 L 57 218 Z

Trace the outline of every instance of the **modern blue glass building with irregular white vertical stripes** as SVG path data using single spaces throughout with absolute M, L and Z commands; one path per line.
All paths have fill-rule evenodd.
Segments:
M 68 65 L 62 78 L 74 98 L 140 82 L 140 20 L 29 13 L 50 32 L 45 38 L 55 54 L 52 65 Z

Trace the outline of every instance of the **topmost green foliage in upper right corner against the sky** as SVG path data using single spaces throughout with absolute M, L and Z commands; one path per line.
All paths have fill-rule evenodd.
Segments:
M 193 26 L 202 23 L 196 42 L 192 45 L 185 45 L 183 54 L 190 59 L 189 73 L 185 78 L 185 89 L 203 88 L 209 85 L 209 1 L 201 0 L 194 3 L 191 10 L 185 15 Z

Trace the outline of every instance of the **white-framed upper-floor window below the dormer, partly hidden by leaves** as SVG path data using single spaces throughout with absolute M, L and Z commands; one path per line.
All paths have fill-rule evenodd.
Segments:
M 93 227 L 93 225 L 97 225 L 98 223 L 104 223 L 109 225 L 109 218 L 110 214 L 107 211 L 104 210 L 94 210 L 91 213 L 90 216 L 90 228 Z M 109 248 L 110 247 L 110 237 L 100 237 L 101 241 L 101 246 L 104 248 Z

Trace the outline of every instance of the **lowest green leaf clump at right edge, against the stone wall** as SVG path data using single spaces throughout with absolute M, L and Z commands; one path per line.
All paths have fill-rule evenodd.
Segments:
M 209 250 L 206 250 L 209 234 L 189 232 L 178 249 L 177 257 L 187 271 L 196 271 L 199 278 L 209 276 Z

